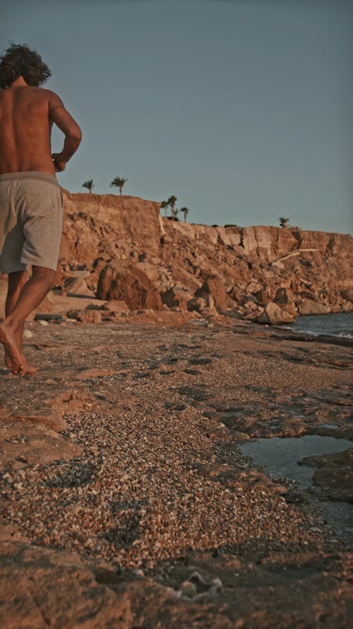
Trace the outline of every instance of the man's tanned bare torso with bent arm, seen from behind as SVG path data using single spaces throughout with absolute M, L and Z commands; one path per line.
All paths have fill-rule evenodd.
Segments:
M 54 175 L 58 169 L 50 144 L 53 122 L 66 137 L 79 136 L 78 125 L 54 92 L 28 85 L 1 90 L 0 174 L 40 171 Z M 68 151 L 66 161 L 72 153 Z

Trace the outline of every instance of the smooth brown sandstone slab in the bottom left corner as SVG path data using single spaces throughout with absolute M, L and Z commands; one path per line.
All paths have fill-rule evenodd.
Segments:
M 0 623 L 4 629 L 131 629 L 131 601 L 100 584 L 78 555 L 3 541 Z M 114 575 L 114 572 L 112 572 Z

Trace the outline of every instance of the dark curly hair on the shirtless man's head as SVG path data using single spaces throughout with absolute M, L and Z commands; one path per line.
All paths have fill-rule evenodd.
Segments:
M 6 89 L 23 76 L 28 85 L 38 87 L 45 83 L 52 72 L 42 61 L 42 57 L 36 50 L 30 50 L 27 44 L 10 45 L 0 56 L 0 88 Z

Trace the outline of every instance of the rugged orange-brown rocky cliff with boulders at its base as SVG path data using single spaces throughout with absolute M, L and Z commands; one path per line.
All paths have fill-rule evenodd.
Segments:
M 233 311 L 263 323 L 353 309 L 353 238 L 172 221 L 158 202 L 64 192 L 59 281 L 130 310 Z

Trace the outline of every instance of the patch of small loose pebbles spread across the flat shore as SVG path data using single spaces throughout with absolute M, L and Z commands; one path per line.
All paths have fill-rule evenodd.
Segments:
M 89 551 L 100 560 L 144 573 L 159 570 L 166 560 L 184 558 L 192 548 L 202 552 L 220 548 L 220 554 L 241 548 L 244 553 L 261 555 L 280 552 L 288 545 L 294 548 L 291 552 L 297 548 L 302 553 L 309 542 L 325 543 L 329 532 L 311 526 L 305 511 L 308 505 L 292 507 L 271 487 L 264 487 L 258 471 L 249 475 L 252 463 L 244 463 L 232 431 L 225 425 L 220 430 L 217 417 L 209 417 L 210 412 L 215 416 L 216 407 L 222 404 L 242 403 L 239 422 L 251 419 L 242 430 L 256 434 L 265 424 L 265 420 L 257 420 L 265 404 L 258 400 L 270 398 L 273 386 L 263 391 L 265 385 L 259 382 L 265 377 L 265 358 L 260 365 L 251 352 L 244 358 L 240 335 L 237 353 L 227 359 L 221 355 L 232 352 L 232 338 L 229 340 L 229 333 L 217 335 L 220 358 L 201 364 L 200 374 L 193 376 L 207 391 L 207 399 L 188 401 L 186 408 L 176 411 L 185 401 L 181 388 L 190 386 L 191 376 L 184 368 L 194 355 L 193 343 L 202 341 L 203 353 L 213 356 L 214 338 L 201 339 L 205 330 L 191 326 L 171 330 L 104 324 L 90 326 L 89 335 L 87 330 L 85 324 L 82 328 L 55 328 L 54 332 L 52 326 L 47 331 L 43 328 L 50 367 L 45 368 L 42 380 L 40 372 L 36 374 L 30 388 L 25 389 L 25 381 L 21 382 L 27 399 L 35 405 L 44 391 L 52 392 L 49 384 L 59 381 L 66 392 L 61 404 L 67 405 L 64 418 L 68 428 L 62 437 L 80 444 L 83 454 L 73 461 L 28 466 L 24 476 L 16 476 L 21 481 L 17 487 L 13 487 L 10 473 L 3 474 L 3 491 L 9 500 L 3 500 L 0 517 L 16 519 L 34 543 L 75 548 L 83 555 Z M 155 362 L 162 359 L 159 343 L 178 357 L 180 367 L 163 378 L 156 370 L 149 371 L 148 381 L 134 381 L 133 375 L 143 372 L 152 355 Z M 100 349 L 98 358 L 92 347 L 109 347 L 109 351 Z M 74 369 L 83 362 L 97 371 L 98 359 L 102 376 L 71 381 L 65 371 L 65 366 Z M 281 376 L 290 378 L 295 368 L 292 363 L 280 363 L 278 369 Z M 107 369 L 116 374 L 104 375 Z M 71 396 L 73 387 L 76 393 Z M 102 396 L 95 412 L 84 407 L 92 392 Z M 20 404 L 19 395 L 18 383 L 6 391 L 6 396 L 13 398 L 13 408 Z M 172 405 L 169 410 L 164 407 L 166 400 Z M 247 410 L 246 404 L 256 408 Z M 205 473 L 210 466 L 221 473 Z M 174 596 L 212 597 L 222 589 L 219 577 L 206 578 L 199 567 L 183 584 Z M 203 589 L 207 592 L 198 592 Z

